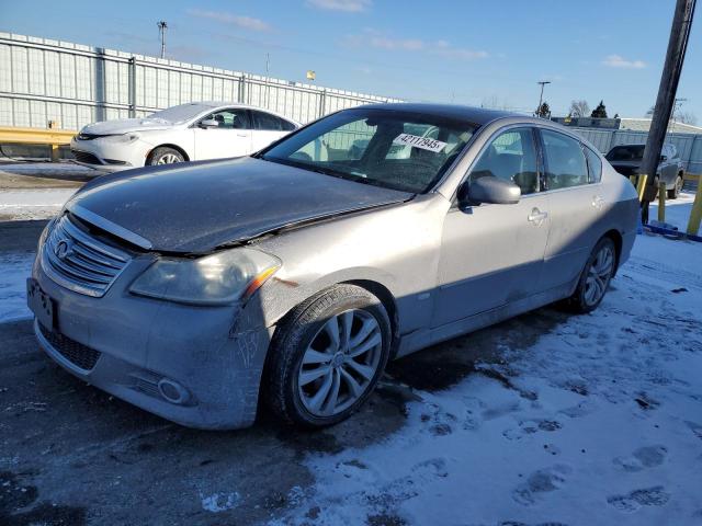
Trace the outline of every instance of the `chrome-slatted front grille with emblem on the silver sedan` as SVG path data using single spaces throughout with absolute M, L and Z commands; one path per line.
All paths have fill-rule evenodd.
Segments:
M 63 216 L 42 248 L 42 268 L 59 285 L 102 297 L 132 256 L 101 241 Z

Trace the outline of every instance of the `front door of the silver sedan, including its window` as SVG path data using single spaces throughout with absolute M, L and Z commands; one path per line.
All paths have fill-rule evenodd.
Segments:
M 498 135 L 472 167 L 468 181 L 495 176 L 517 183 L 513 205 L 452 208 L 443 228 L 433 327 L 501 307 L 539 290 L 551 227 L 540 191 L 540 162 L 531 127 Z

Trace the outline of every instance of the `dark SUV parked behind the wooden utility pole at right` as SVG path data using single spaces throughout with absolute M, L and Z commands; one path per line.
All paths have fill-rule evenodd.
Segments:
M 622 175 L 637 175 L 644 157 L 645 145 L 619 145 L 605 156 L 610 164 Z M 668 198 L 675 199 L 682 190 L 684 168 L 673 145 L 664 145 L 656 176 L 666 183 Z

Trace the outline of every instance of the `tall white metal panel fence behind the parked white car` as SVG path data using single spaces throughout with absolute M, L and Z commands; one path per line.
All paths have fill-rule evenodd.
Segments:
M 252 104 L 306 123 L 398 99 L 0 32 L 0 126 L 78 129 L 192 101 Z

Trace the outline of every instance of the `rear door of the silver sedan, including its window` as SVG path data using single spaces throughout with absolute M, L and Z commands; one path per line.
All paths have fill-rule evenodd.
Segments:
M 580 275 L 611 203 L 603 198 L 599 155 L 569 135 L 545 128 L 540 134 L 545 161 L 544 190 L 551 206 L 543 274 L 543 288 L 547 289 Z

